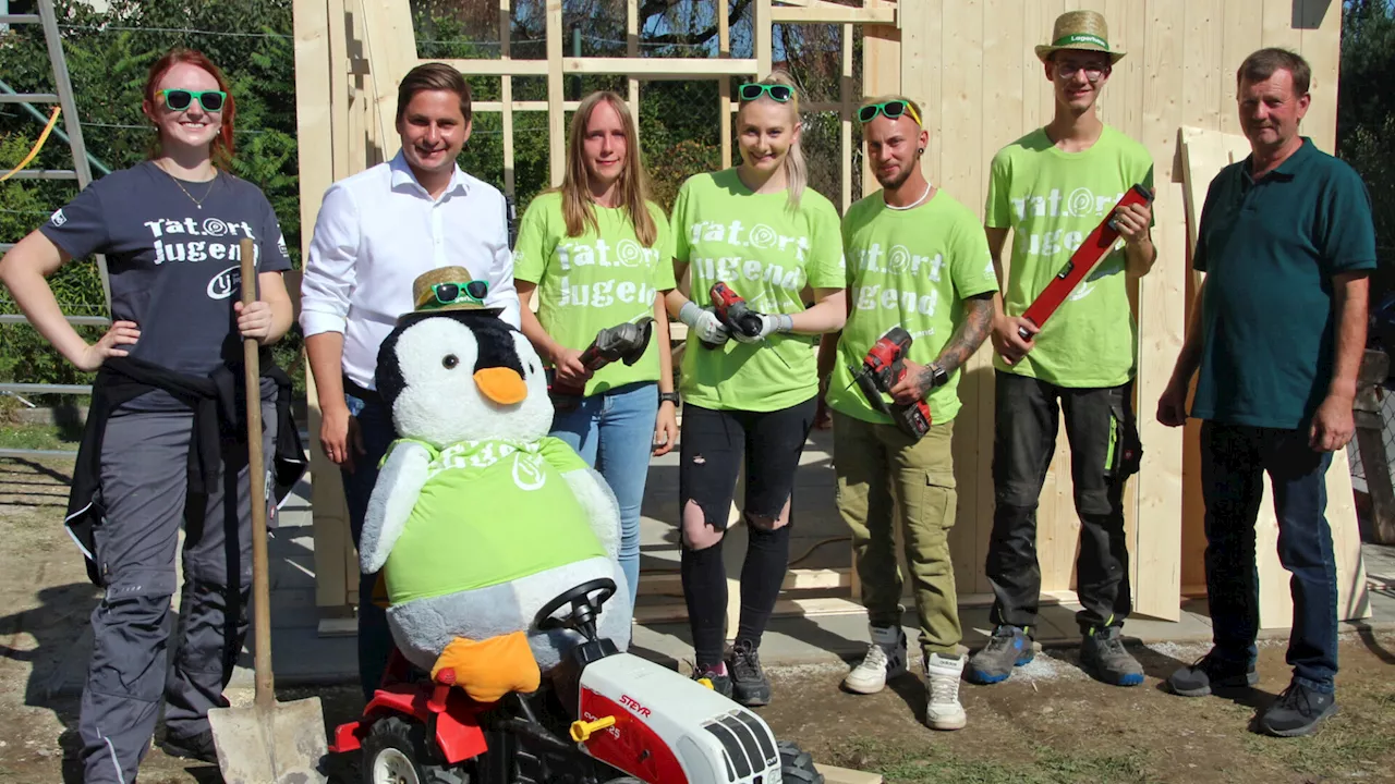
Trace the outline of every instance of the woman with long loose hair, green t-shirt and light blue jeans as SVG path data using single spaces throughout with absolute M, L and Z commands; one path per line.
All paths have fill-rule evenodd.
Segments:
M 635 121 L 614 92 L 593 92 L 572 116 L 562 186 L 534 198 L 515 244 L 523 333 L 555 371 L 552 435 L 566 441 L 619 501 L 619 564 L 631 603 L 639 586 L 639 508 L 649 456 L 678 439 L 664 293 L 674 287 L 668 220 L 646 197 Z M 594 372 L 579 360 L 601 329 L 650 315 L 654 332 L 633 364 Z M 657 444 L 657 446 L 656 446 Z

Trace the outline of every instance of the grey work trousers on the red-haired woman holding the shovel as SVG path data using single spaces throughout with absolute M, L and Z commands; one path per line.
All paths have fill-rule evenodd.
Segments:
M 262 423 L 269 465 L 275 403 L 262 402 Z M 193 424 L 186 412 L 116 412 L 107 420 L 99 491 L 106 513 L 93 554 L 106 596 L 92 611 L 92 658 L 78 720 L 88 784 L 135 781 L 162 695 L 165 727 L 176 737 L 208 730 L 208 710 L 229 704 L 223 689 L 247 635 L 252 578 L 247 449 L 223 442 L 222 465 L 241 469 L 233 477 L 220 467 L 198 509 L 198 499 L 187 498 Z M 181 636 L 172 654 L 181 526 Z

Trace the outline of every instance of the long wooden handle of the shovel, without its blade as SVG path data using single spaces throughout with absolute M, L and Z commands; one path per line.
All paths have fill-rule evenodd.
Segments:
M 250 239 L 240 243 L 243 307 L 257 301 L 257 247 Z M 243 339 L 243 364 L 247 388 L 247 473 L 251 480 L 252 506 L 252 635 L 257 642 L 257 704 L 269 707 L 276 700 L 271 672 L 271 580 L 266 575 L 266 469 L 262 455 L 261 423 L 261 346 L 255 338 Z

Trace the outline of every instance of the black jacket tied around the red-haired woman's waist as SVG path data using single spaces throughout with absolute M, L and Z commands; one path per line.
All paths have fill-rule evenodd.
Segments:
M 278 504 L 306 473 L 306 452 L 300 431 L 290 414 L 290 377 L 262 352 L 261 374 L 276 384 L 276 453 L 273 492 Z M 243 365 L 219 365 L 208 377 L 186 375 L 134 357 L 107 357 L 92 384 L 92 406 L 82 430 L 73 487 L 68 492 L 68 513 L 64 523 L 73 540 L 86 558 L 88 578 L 103 585 L 96 564 L 95 530 L 106 513 L 102 505 L 102 438 L 106 421 L 121 405 L 162 389 L 194 412 L 194 430 L 188 446 L 187 485 L 193 504 L 186 506 L 202 513 L 206 498 L 216 487 L 218 470 L 223 459 L 222 441 L 247 441 L 247 416 L 243 409 Z M 227 466 L 227 470 L 241 470 Z M 255 502 L 255 499 L 254 499 Z

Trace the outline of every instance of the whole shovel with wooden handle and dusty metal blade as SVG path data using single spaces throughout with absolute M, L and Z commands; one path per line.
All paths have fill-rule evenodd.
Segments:
M 243 307 L 257 301 L 251 240 L 241 241 Z M 257 699 L 251 707 L 208 711 L 218 767 L 227 784 L 324 784 L 328 755 L 319 698 L 278 703 L 271 672 L 271 583 L 266 576 L 266 473 L 262 459 L 261 368 L 257 339 L 243 340 L 247 365 L 247 459 L 252 504 L 252 632 Z

